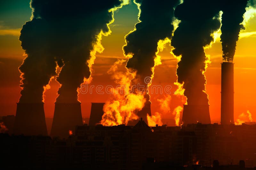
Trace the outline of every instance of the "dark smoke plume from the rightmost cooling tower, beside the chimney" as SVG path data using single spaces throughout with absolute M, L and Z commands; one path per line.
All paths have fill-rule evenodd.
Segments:
M 181 55 L 178 82 L 184 82 L 184 95 L 190 105 L 208 105 L 204 92 L 203 71 L 207 60 L 204 47 L 213 41 L 211 34 L 220 28 L 219 11 L 218 3 L 205 0 L 184 0 L 174 11 L 181 22 L 172 37 L 171 45 L 175 48 L 172 52 Z

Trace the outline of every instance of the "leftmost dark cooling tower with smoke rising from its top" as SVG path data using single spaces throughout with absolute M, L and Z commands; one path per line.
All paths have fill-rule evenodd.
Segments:
M 44 103 L 17 103 L 14 134 L 47 135 Z

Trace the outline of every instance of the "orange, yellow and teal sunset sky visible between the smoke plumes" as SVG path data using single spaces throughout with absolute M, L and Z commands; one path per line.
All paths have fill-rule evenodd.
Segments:
M 0 7 L 0 116 L 15 115 L 16 102 L 20 97 L 20 73 L 18 67 L 24 59 L 24 51 L 18 38 L 22 25 L 30 20 L 31 9 L 29 8 L 29 0 L 17 1 L 16 3 L 4 4 Z M 125 59 L 122 51 L 122 46 L 125 44 L 124 36 L 134 29 L 134 24 L 138 22 L 138 12 L 137 6 L 131 2 L 114 13 L 115 21 L 110 25 L 112 33 L 102 39 L 102 45 L 105 50 L 103 53 L 96 54 L 95 64 L 92 67 L 93 79 L 89 87 L 93 85 L 95 87 L 97 85 L 102 85 L 103 87 L 116 85 L 107 71 L 118 59 Z M 234 57 L 235 122 L 238 116 L 243 112 L 246 113 L 247 110 L 252 113 L 253 121 L 256 121 L 256 17 L 251 18 L 245 26 L 246 29 L 240 32 Z M 211 63 L 208 65 L 205 76 L 212 123 L 220 123 L 220 63 L 222 62 L 222 50 L 219 37 L 220 32 L 212 47 L 205 50 L 205 53 L 211 56 Z M 173 84 L 177 79 L 175 72 L 177 60 L 170 53 L 171 49 L 170 44 L 167 44 L 164 51 L 158 54 L 161 56 L 162 65 L 155 68 L 152 85 L 161 85 L 163 87 L 171 85 L 173 94 L 177 89 Z M 54 102 L 59 84 L 52 79 L 50 86 L 51 89 L 44 94 L 45 117 L 53 117 Z M 108 100 L 108 94 L 97 94 L 95 89 L 92 92 L 92 94 L 79 95 L 83 117 L 90 117 L 91 102 L 105 102 Z M 151 94 L 151 112 L 153 115 L 155 112 L 161 113 L 163 118 L 168 119 L 168 125 L 174 125 L 175 121 L 172 112 L 174 108 L 178 105 L 182 106 L 184 103 L 180 98 L 171 95 L 172 99 L 168 101 L 170 110 L 161 110 L 160 101 L 165 100 L 166 97 L 168 95 L 164 93 Z M 249 119 L 246 118 L 245 121 L 249 121 Z M 165 124 L 166 122 L 163 123 Z

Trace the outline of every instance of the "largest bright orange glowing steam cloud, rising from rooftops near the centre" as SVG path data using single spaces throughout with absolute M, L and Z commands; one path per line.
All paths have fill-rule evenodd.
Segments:
M 130 93 L 130 83 L 135 73 L 129 73 L 125 64 L 126 60 L 117 60 L 108 70 L 118 87 L 111 88 L 111 98 L 103 107 L 100 123 L 105 126 L 127 125 L 130 120 L 138 119 L 135 112 L 141 110 L 146 102 L 142 94 Z

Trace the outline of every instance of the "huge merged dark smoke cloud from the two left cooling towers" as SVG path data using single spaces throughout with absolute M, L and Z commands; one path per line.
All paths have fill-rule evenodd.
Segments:
M 91 74 L 87 60 L 93 44 L 101 30 L 109 31 L 109 9 L 121 3 L 32 0 L 32 20 L 23 25 L 20 35 L 28 55 L 19 67 L 23 78 L 20 102 L 42 102 L 44 86 L 56 75 L 57 65 L 62 69 L 57 77 L 61 87 L 56 102 L 78 102 L 77 88 Z

